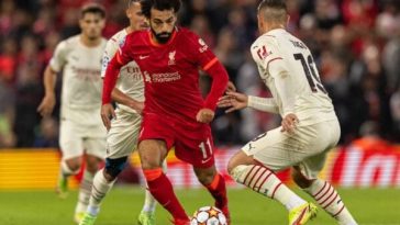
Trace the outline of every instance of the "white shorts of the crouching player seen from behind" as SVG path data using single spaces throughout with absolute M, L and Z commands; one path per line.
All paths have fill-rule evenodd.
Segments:
M 299 166 L 308 179 L 318 178 L 326 154 L 338 142 L 341 127 L 337 120 L 296 127 L 293 134 L 280 132 L 281 126 L 258 135 L 242 150 L 273 171 Z

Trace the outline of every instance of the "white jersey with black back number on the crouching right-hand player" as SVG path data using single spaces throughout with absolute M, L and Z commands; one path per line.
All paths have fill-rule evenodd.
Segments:
M 284 29 L 273 30 L 251 50 L 282 117 L 295 113 L 303 125 L 336 119 L 312 55 L 299 38 Z

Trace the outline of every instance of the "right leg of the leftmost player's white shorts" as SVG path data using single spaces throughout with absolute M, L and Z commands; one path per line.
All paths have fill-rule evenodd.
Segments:
M 87 155 L 98 158 L 105 158 L 107 149 L 107 130 L 102 124 L 87 127 L 85 131 L 84 147 Z

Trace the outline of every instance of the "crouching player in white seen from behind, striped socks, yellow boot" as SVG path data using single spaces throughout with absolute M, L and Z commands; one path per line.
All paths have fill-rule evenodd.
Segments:
M 318 173 L 326 154 L 338 142 L 341 128 L 331 99 L 321 83 L 312 55 L 303 42 L 288 33 L 282 0 L 264 0 L 258 7 L 260 36 L 252 56 L 273 98 L 229 92 L 219 101 L 226 112 L 246 106 L 282 116 L 281 127 L 260 134 L 229 161 L 232 178 L 277 200 L 289 211 L 289 225 L 305 224 L 316 206 L 288 189 L 274 173 L 293 168 L 295 182 L 342 225 L 355 225 L 336 190 Z

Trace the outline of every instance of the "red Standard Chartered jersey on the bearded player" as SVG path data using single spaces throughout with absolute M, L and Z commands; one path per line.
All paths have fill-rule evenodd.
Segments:
M 219 60 L 191 31 L 176 27 L 166 44 L 153 42 L 151 31 L 131 33 L 115 57 L 121 65 L 135 60 L 140 66 L 145 81 L 144 113 L 196 120 L 200 109 L 215 109 L 214 101 L 204 102 L 201 95 L 199 69 L 208 70 Z

